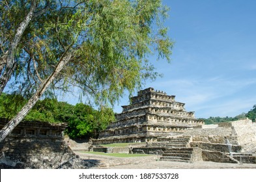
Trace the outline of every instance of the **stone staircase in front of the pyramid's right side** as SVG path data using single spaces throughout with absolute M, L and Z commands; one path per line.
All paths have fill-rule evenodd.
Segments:
M 169 138 L 166 147 L 167 149 L 160 157 L 161 161 L 177 161 L 190 162 L 192 161 L 193 148 L 190 148 L 190 137 L 178 136 Z

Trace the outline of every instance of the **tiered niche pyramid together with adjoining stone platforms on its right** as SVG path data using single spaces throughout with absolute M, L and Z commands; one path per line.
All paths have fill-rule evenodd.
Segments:
M 158 154 L 167 161 L 256 164 L 256 124 L 248 118 L 204 125 L 194 112 L 184 109 L 184 103 L 175 101 L 175 96 L 154 88 L 139 91 L 130 105 L 122 108 L 117 121 L 92 140 L 93 151 Z M 141 146 L 100 146 L 120 142 Z

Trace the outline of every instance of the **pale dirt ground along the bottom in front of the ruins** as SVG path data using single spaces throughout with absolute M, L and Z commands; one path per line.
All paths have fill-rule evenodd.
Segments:
M 231 164 L 219 162 L 171 162 L 159 161 L 160 156 L 147 157 L 108 157 L 76 151 L 76 154 L 99 169 L 256 169 L 256 164 Z

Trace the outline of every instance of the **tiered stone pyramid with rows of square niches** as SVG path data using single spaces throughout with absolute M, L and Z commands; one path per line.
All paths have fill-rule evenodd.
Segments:
M 163 91 L 147 88 L 122 106 L 116 122 L 102 131 L 94 144 L 119 142 L 156 142 L 160 137 L 180 135 L 188 128 L 200 127 L 204 122 L 187 112 L 184 103 L 175 101 Z

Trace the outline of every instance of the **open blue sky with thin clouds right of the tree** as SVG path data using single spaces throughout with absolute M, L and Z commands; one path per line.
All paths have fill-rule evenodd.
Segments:
M 256 1 L 172 0 L 165 25 L 175 41 L 164 77 L 147 87 L 175 95 L 197 118 L 236 116 L 256 104 Z M 128 96 L 114 110 L 121 112 Z

